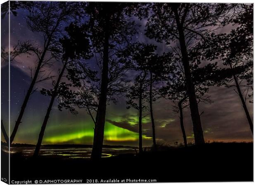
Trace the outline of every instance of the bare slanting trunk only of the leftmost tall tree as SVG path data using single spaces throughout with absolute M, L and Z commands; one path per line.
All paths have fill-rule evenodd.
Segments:
M 48 47 L 49 47 L 49 44 L 50 44 L 50 41 L 47 42 L 47 45 L 46 45 L 46 47 L 45 47 L 45 49 L 44 49 L 44 51 L 43 51 L 43 53 L 42 53 L 42 56 L 41 56 L 41 58 L 40 58 L 40 60 L 39 60 L 39 62 L 38 62 L 38 65 L 37 65 L 37 67 L 36 67 L 36 72 L 35 72 L 35 74 L 34 74 L 34 76 L 33 76 L 33 79 L 32 79 L 32 81 L 31 81 L 31 84 L 30 84 L 30 86 L 29 86 L 29 88 L 28 88 L 28 91 L 27 91 L 27 93 L 26 93 L 25 99 L 24 99 L 23 104 L 22 104 L 22 106 L 21 106 L 21 110 L 19 111 L 19 116 L 18 116 L 18 118 L 17 118 L 17 120 L 16 120 L 16 123 L 15 123 L 15 125 L 14 125 L 13 130 L 12 130 L 12 134 L 11 134 L 11 136 L 10 136 L 10 146 L 12 145 L 12 142 L 13 142 L 13 140 L 14 140 L 14 137 L 15 137 L 16 133 L 17 133 L 17 130 L 18 130 L 18 128 L 19 128 L 20 123 L 22 123 L 22 122 L 21 122 L 22 117 L 23 117 L 23 115 L 24 115 L 24 112 L 25 112 L 25 109 L 26 109 L 26 106 L 27 106 L 29 97 L 30 97 L 30 95 L 31 95 L 31 93 L 32 93 L 32 91 L 33 91 L 33 88 L 34 88 L 35 84 L 36 84 L 36 80 L 37 80 L 37 77 L 38 77 L 38 74 L 39 74 L 41 65 L 42 65 L 42 63 L 43 63 L 43 60 L 44 60 L 44 57 L 45 57 L 45 53 L 46 53 L 46 51 L 47 51 L 47 49 L 48 49 Z

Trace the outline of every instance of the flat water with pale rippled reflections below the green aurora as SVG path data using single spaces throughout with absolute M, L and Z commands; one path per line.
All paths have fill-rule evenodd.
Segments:
M 2 150 L 8 153 L 8 148 L 2 146 Z M 11 155 L 22 155 L 24 157 L 31 157 L 35 147 L 26 146 L 26 147 L 11 147 L 10 153 Z M 90 158 L 92 152 L 92 148 L 55 148 L 42 146 L 40 149 L 41 156 L 47 157 L 62 157 L 64 159 L 69 158 Z M 102 157 L 111 157 L 119 154 L 127 154 L 132 153 L 135 154 L 134 148 L 103 148 L 102 149 Z

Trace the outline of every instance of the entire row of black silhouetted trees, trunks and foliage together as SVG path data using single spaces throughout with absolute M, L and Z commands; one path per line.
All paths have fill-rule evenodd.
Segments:
M 11 62 L 22 55 L 34 55 L 37 60 L 10 138 L 1 122 L 7 143 L 13 143 L 28 101 L 37 90 L 36 83 L 42 81 L 50 81 L 52 89 L 40 90 L 50 102 L 40 120 L 34 157 L 39 154 L 56 103 L 59 110 L 73 114 L 78 113 L 76 109 L 85 109 L 95 123 L 91 157 L 100 158 L 108 105 L 121 96 L 126 97 L 127 108 L 137 110 L 140 153 L 147 113 L 157 150 L 154 102 L 160 98 L 170 99 L 173 111 L 179 113 L 184 145 L 185 108 L 190 109 L 194 143 L 204 144 L 204 111 L 199 111 L 199 103 L 213 103 L 207 94 L 210 86 L 235 88 L 253 133 L 247 108 L 253 92 L 253 5 L 11 1 L 11 7 L 14 16 L 19 16 L 17 9 L 27 10 L 27 28 L 43 36 L 43 47 L 36 41 L 22 40 L 10 53 Z M 7 13 L 3 11 L 2 18 Z M 142 20 L 145 28 L 140 25 Z M 220 33 L 225 26 L 230 26 L 230 31 Z M 141 29 L 148 39 L 165 44 L 169 50 L 160 53 L 157 46 L 138 42 L 135 37 Z M 5 48 L 1 51 L 7 60 Z M 56 71 L 50 73 L 53 66 Z

